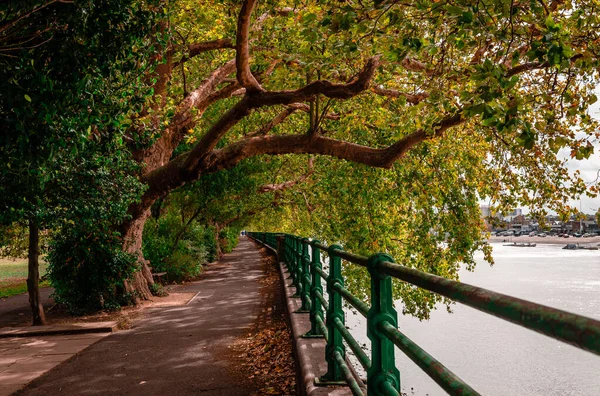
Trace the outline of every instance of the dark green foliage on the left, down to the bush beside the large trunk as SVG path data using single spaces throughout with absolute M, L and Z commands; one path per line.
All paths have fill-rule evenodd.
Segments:
M 149 94 L 152 3 L 0 8 L 0 224 L 57 231 L 50 278 L 73 312 L 118 307 L 134 270 L 115 230 L 141 193 L 125 142 L 144 144 L 126 130 Z

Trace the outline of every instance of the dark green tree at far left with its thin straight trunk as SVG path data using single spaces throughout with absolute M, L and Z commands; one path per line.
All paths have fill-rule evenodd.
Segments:
M 147 67 L 143 51 L 133 52 L 153 11 L 127 0 L 9 2 L 0 11 L 0 222 L 28 223 L 27 285 L 39 325 L 39 230 L 64 226 L 68 213 L 81 213 L 74 204 L 90 203 L 82 197 L 98 185 L 82 180 L 130 167 L 121 140 L 127 113 L 143 101 L 137 77 Z M 64 185 L 70 172 L 81 177 L 76 191 Z M 123 194 L 131 200 L 140 189 L 129 177 L 120 185 L 133 188 Z

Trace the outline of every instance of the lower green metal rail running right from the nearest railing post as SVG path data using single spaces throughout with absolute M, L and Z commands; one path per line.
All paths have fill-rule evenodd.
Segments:
M 475 389 L 458 378 L 446 366 L 398 331 L 392 324 L 384 322 L 381 326 L 381 332 L 449 394 L 479 395 Z

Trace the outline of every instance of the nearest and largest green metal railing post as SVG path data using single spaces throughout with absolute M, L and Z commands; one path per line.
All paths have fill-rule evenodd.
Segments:
M 384 396 L 384 388 L 391 385 L 400 392 L 400 372 L 394 360 L 394 344 L 381 333 L 381 325 L 388 322 L 398 326 L 398 314 L 394 309 L 392 278 L 379 271 L 383 261 L 394 259 L 378 253 L 369 257 L 367 267 L 371 274 L 371 309 L 367 315 L 367 335 L 371 340 L 371 368 L 367 372 L 368 396 Z

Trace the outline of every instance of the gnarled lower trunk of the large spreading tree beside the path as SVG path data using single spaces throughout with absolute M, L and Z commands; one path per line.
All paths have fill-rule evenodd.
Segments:
M 152 271 L 148 267 L 149 261 L 144 259 L 142 252 L 144 224 L 146 224 L 149 216 L 150 208 L 148 207 L 128 222 L 122 230 L 124 237 L 123 249 L 136 255 L 140 266 L 140 270 L 136 271 L 131 279 L 125 281 L 125 291 L 132 294 L 135 302 L 139 302 L 139 299 L 148 300 L 152 297 L 150 285 L 154 284 L 154 280 L 152 279 Z

